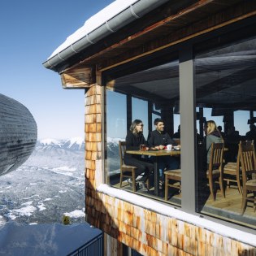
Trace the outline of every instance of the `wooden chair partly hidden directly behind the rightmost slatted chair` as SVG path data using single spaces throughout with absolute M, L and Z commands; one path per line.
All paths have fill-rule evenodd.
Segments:
M 240 144 L 241 143 L 254 144 L 254 141 L 240 141 Z M 239 193 L 242 194 L 240 145 L 238 148 L 236 162 L 229 162 L 223 167 L 223 180 L 226 180 L 228 185 L 230 182 L 236 183 Z

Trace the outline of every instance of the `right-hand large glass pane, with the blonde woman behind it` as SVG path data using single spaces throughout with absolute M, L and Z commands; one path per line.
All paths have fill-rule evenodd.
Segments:
M 252 176 L 243 180 L 237 165 L 240 141 L 256 139 L 256 37 L 205 50 L 206 45 L 197 46 L 204 50 L 197 50 L 194 59 L 197 130 L 203 137 L 197 141 L 197 211 L 256 228 L 253 202 L 241 214 L 241 189 Z M 219 143 L 223 159 L 215 163 L 212 152 Z

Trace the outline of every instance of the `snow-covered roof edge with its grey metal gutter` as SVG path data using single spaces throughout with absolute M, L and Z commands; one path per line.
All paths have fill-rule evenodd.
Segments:
M 57 71 L 77 53 L 115 33 L 132 21 L 153 11 L 168 0 L 115 0 L 93 15 L 85 24 L 63 42 L 43 65 Z M 58 67 L 59 66 L 59 67 Z M 63 65 L 65 66 L 65 65 Z

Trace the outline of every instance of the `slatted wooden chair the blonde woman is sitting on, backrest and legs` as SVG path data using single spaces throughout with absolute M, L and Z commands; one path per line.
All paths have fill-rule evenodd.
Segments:
M 214 201 L 216 199 L 214 192 L 214 184 L 216 180 L 219 181 L 219 187 L 223 197 L 225 197 L 223 187 L 223 150 L 223 143 L 212 143 L 210 146 L 210 163 L 206 175 L 209 180 L 210 194 Z

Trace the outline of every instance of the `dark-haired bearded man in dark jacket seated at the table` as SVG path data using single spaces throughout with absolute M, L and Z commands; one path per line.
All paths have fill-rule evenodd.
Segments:
M 176 145 L 176 142 L 171 139 L 167 132 L 164 132 L 163 119 L 154 119 L 155 130 L 150 132 L 148 139 L 148 144 L 150 148 L 156 150 L 163 150 L 166 145 Z M 159 171 L 159 187 L 163 187 L 164 174 L 163 170 L 167 168 L 168 170 L 178 169 L 180 163 L 176 157 L 161 156 L 158 160 L 158 171 Z

